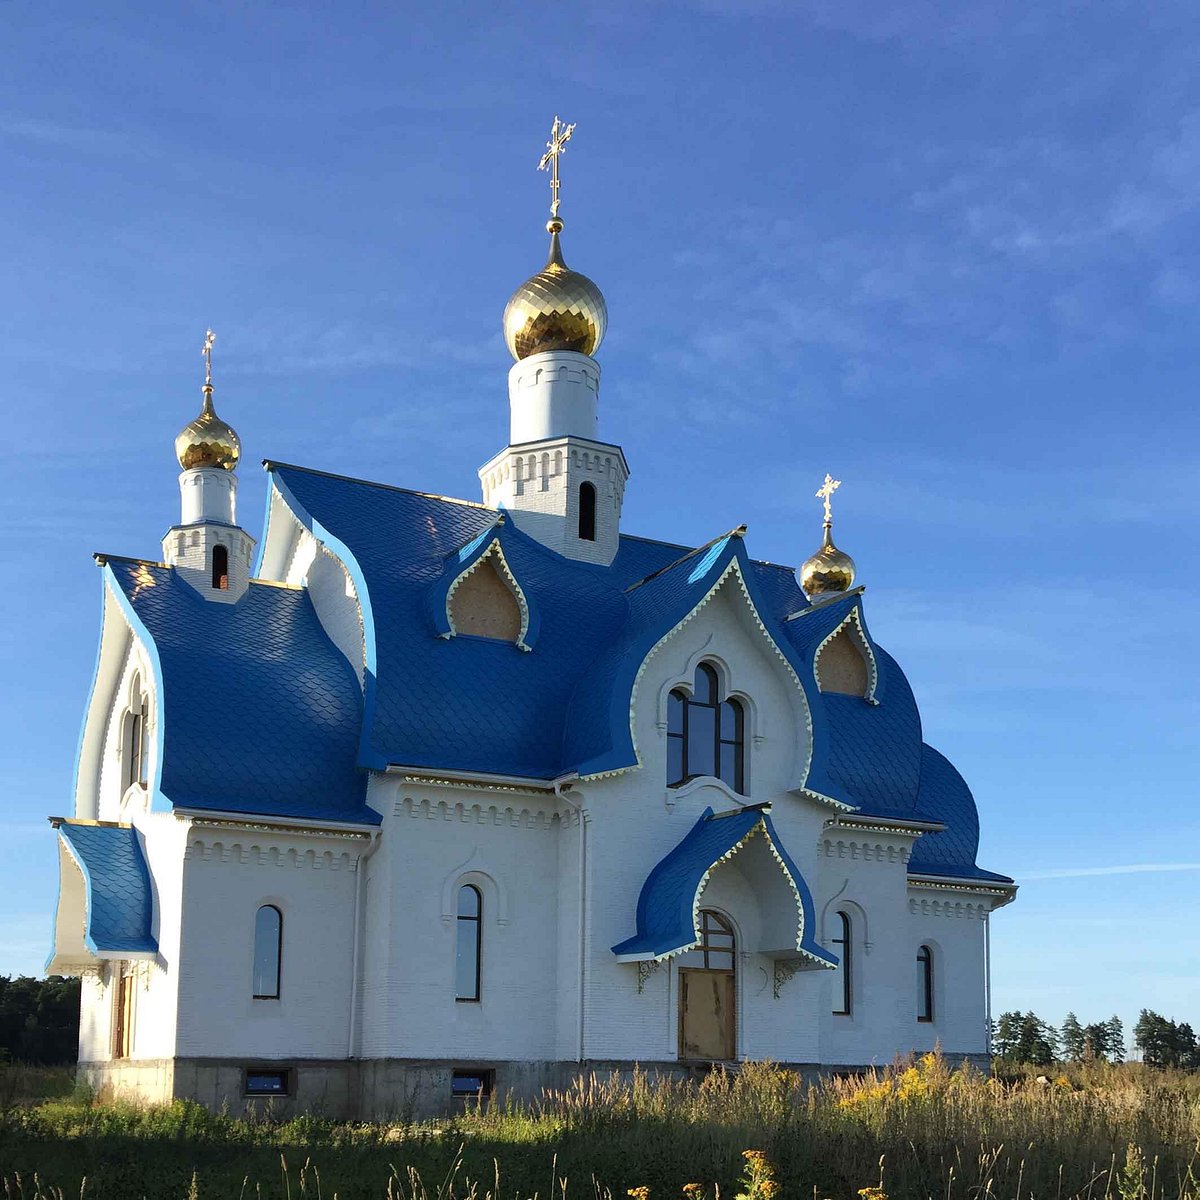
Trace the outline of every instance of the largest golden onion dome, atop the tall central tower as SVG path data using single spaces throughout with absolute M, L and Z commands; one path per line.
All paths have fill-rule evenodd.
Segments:
M 595 354 L 608 325 L 608 308 L 600 289 L 563 262 L 558 244 L 563 222 L 552 217 L 546 229 L 546 265 L 512 293 L 504 310 L 504 342 L 518 361 L 542 350 Z

